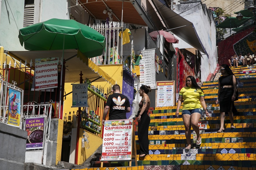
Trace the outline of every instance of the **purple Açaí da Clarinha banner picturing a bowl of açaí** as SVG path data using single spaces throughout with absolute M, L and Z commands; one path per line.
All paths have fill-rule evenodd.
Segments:
M 44 117 L 26 118 L 25 124 L 28 132 L 26 150 L 43 148 Z

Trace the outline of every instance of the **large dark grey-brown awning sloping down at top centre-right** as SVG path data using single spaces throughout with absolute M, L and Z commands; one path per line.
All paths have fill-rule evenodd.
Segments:
M 170 10 L 160 1 L 152 0 L 152 2 L 155 5 L 159 15 L 161 15 L 163 22 L 167 26 L 167 29 L 171 29 L 171 32 L 181 38 L 183 41 L 207 54 L 193 23 L 181 17 L 176 12 Z M 161 23 L 158 24 L 160 25 Z

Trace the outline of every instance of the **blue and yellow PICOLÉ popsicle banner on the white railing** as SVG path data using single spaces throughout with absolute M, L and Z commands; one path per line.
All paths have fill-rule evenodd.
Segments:
M 9 87 L 8 125 L 20 127 L 21 91 Z

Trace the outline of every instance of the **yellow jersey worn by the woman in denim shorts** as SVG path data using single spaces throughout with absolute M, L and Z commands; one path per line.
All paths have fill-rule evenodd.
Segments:
M 201 109 L 200 96 L 203 95 L 203 91 L 200 89 L 183 87 L 179 93 L 183 97 L 182 110 Z

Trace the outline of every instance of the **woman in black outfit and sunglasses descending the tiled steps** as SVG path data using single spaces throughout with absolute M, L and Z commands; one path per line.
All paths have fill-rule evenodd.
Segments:
M 220 66 L 222 76 L 219 78 L 219 90 L 216 104 L 220 102 L 220 130 L 217 132 L 224 132 L 225 112 L 228 112 L 231 128 L 234 126 L 233 111 L 236 111 L 234 106 L 236 94 L 236 78 L 228 65 Z

